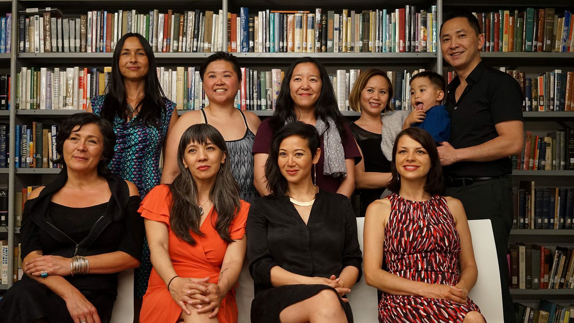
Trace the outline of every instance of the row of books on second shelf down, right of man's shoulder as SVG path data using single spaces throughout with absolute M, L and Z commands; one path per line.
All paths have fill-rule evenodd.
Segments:
M 509 69 L 506 72 L 522 88 L 522 111 L 574 111 L 574 72 L 554 69 L 532 79 L 521 71 Z

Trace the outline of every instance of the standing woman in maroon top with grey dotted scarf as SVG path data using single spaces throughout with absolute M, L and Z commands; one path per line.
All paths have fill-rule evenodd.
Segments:
M 289 66 L 273 116 L 264 120 L 253 145 L 254 181 L 261 196 L 268 195 L 265 163 L 275 130 L 302 121 L 321 136 L 321 157 L 313 180 L 321 189 L 350 197 L 355 189 L 355 164 L 361 159 L 351 129 L 338 109 L 327 71 L 319 61 L 301 57 Z

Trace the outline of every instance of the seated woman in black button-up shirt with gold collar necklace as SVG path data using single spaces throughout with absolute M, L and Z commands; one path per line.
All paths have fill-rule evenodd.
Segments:
M 315 127 L 302 122 L 273 138 L 265 167 L 273 193 L 247 217 L 251 322 L 352 322 L 344 294 L 360 278 L 356 220 L 346 196 L 313 184 L 319 145 Z

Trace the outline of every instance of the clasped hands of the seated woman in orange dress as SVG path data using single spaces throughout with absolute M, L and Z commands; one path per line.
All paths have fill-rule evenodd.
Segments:
M 188 315 L 191 312 L 187 304 L 197 309 L 197 313 L 208 313 L 210 318 L 214 318 L 219 313 L 219 306 L 225 297 L 219 285 L 210 283 L 209 278 L 185 278 L 176 277 L 169 285 L 169 293 L 173 300 Z

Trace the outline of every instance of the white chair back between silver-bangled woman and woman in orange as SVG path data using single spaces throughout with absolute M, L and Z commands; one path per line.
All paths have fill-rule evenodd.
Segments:
M 134 321 L 134 270 L 118 273 L 118 297 L 111 312 L 111 323 Z

